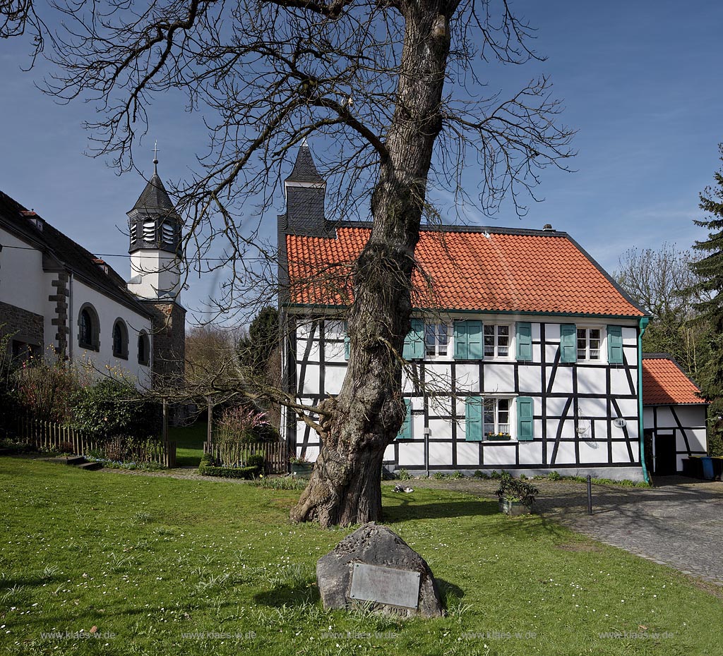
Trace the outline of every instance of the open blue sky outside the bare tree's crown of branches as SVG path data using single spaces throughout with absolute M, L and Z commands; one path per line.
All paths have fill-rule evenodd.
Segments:
M 549 74 L 555 96 L 564 101 L 562 121 L 578 130 L 571 164 L 576 173 L 543 173 L 537 194 L 545 200 L 531 204 L 523 220 L 508 209 L 492 220 L 474 214 L 471 220 L 521 228 L 552 223 L 610 271 L 631 246 L 669 241 L 687 248 L 703 238 L 692 220 L 701 215 L 698 193 L 720 165 L 723 4 L 559 0 L 517 1 L 514 7 L 538 28 L 534 46 L 547 61 L 506 71 L 505 85 Z M 122 255 L 125 212 L 145 181 L 134 172 L 118 176 L 108 162 L 85 156 L 89 135 L 82 121 L 92 120 L 92 108 L 57 105 L 35 88 L 48 69 L 21 71 L 27 45 L 20 39 L 0 43 L 0 189 L 90 251 Z M 154 139 L 161 149 L 159 173 L 177 180 L 194 165 L 206 134 L 182 100 L 169 97 L 151 109 L 150 133 L 135 153 L 145 176 L 153 167 Z M 439 196 L 442 204 L 448 199 Z M 281 212 L 281 197 L 276 205 Z M 128 274 L 127 259 L 107 259 Z M 182 302 L 193 311 L 218 279 L 189 282 Z

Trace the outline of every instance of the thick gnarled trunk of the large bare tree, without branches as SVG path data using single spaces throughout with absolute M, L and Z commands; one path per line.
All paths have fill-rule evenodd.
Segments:
M 409 5 L 409 6 L 408 6 Z M 401 358 L 410 327 L 411 275 L 450 46 L 451 6 L 401 5 L 406 22 L 398 101 L 372 194 L 372 233 L 354 267 L 351 353 L 341 392 L 324 402 L 322 449 L 297 522 L 350 525 L 382 518 L 385 448 L 404 419 Z

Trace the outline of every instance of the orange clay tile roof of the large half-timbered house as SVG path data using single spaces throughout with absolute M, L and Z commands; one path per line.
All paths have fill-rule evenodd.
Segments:
M 336 238 L 286 236 L 291 303 L 347 305 L 350 266 L 368 238 L 369 228 L 354 227 Z M 644 314 L 565 233 L 422 230 L 416 258 L 418 308 Z

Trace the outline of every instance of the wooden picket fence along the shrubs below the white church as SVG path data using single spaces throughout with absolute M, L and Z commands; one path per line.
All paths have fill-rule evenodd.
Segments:
M 127 452 L 128 444 L 121 437 L 98 440 L 83 431 L 52 421 L 20 416 L 17 420 L 17 439 L 41 449 L 56 449 L 77 455 L 100 454 L 116 459 L 116 454 Z M 155 462 L 164 467 L 176 466 L 176 442 L 147 441 L 137 446 L 135 457 L 139 462 Z

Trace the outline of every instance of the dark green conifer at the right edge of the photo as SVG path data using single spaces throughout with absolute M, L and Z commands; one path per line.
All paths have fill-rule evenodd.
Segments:
M 723 144 L 718 150 L 723 160 Z M 690 264 L 698 276 L 692 290 L 706 295 L 696 303 L 702 321 L 711 327 L 708 337 L 710 358 L 699 377 L 705 397 L 711 402 L 709 408 L 709 452 L 723 455 L 723 172 L 714 173 L 714 186 L 701 193 L 699 207 L 708 217 L 693 223 L 709 230 L 708 238 L 696 241 L 693 248 L 703 256 Z

